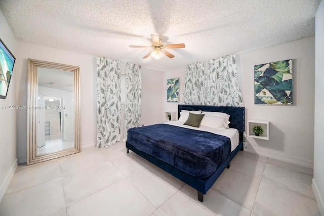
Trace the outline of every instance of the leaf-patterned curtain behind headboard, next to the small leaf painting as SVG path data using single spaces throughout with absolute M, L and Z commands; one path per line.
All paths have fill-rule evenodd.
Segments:
M 192 105 L 205 105 L 206 85 L 204 62 L 186 66 L 183 102 Z

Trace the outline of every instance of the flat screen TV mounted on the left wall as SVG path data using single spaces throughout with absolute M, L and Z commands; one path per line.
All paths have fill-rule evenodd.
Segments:
M 16 58 L 0 38 L 0 98 L 6 99 Z

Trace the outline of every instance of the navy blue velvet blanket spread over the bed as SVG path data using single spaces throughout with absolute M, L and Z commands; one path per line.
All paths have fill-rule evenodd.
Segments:
M 228 137 L 169 124 L 131 128 L 127 142 L 200 179 L 213 174 L 231 151 Z

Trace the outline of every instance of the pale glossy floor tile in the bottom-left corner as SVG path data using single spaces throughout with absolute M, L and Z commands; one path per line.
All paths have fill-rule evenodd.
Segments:
M 61 178 L 6 194 L 0 215 L 49 215 L 65 207 Z

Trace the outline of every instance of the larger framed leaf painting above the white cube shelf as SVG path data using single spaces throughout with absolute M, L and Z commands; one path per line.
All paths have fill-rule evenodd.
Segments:
M 293 105 L 293 60 L 254 66 L 254 104 Z

